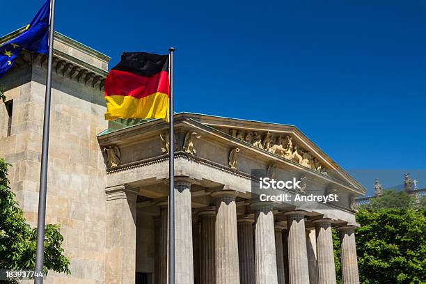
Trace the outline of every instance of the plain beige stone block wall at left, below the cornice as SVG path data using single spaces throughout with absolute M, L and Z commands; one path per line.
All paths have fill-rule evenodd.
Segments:
M 13 100 L 11 135 L 0 105 L 0 157 L 26 220 L 36 226 L 46 68 L 24 65 L 0 80 Z M 47 223 L 61 226 L 71 275 L 49 273 L 45 283 L 104 283 L 105 170 L 96 135 L 107 128 L 102 92 L 54 74 Z

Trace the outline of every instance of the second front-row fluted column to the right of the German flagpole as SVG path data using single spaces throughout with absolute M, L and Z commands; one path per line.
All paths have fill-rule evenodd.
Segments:
M 216 191 L 216 283 L 239 284 L 235 191 Z

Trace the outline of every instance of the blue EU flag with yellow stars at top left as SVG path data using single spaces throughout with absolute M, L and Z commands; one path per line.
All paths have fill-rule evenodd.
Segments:
M 47 54 L 50 0 L 46 0 L 25 31 L 0 47 L 0 77 L 12 68 L 22 49 Z

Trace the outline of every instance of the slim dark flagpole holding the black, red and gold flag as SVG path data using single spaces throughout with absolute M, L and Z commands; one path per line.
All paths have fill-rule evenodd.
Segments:
M 173 52 L 168 49 L 168 76 L 170 77 L 170 100 L 168 106 L 168 122 L 170 123 L 168 145 L 168 284 L 175 284 L 175 136 L 173 127 Z

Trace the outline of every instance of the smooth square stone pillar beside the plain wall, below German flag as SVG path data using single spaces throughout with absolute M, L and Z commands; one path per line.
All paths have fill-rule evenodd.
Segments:
M 107 255 L 105 281 L 134 283 L 136 277 L 137 190 L 124 184 L 105 189 L 107 194 Z

